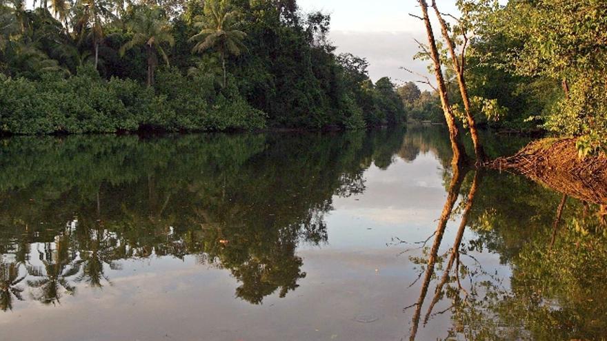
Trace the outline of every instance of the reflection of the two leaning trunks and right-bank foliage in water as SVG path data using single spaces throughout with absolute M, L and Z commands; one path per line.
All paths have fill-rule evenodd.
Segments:
M 604 337 L 607 226 L 600 205 L 568 199 L 511 174 L 467 172 L 452 169 L 432 246 L 424 248 L 424 257 L 410 257 L 422 265 L 424 280 L 417 302 L 405 308 L 413 309 L 409 339 L 416 339 L 420 322 L 426 327 L 446 313 L 452 320 L 446 338 Z M 456 213 L 459 227 L 452 247 L 441 253 L 446 222 Z M 466 227 L 474 232 L 467 241 Z M 512 269 L 509 282 L 472 256 L 484 249 L 499 254 Z M 462 254 L 467 262 L 460 260 Z M 426 300 L 432 282 L 435 291 Z

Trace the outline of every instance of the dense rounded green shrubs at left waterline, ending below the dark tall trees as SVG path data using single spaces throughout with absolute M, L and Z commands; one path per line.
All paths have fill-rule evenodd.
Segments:
M 158 74 L 155 90 L 130 79 L 101 79 L 93 68 L 75 76 L 43 74 L 38 81 L 0 79 L 0 129 L 12 134 L 106 133 L 161 130 L 252 130 L 265 115 L 232 90 L 217 94 L 212 80 L 179 70 Z M 226 90 L 226 92 L 230 92 Z M 212 100 L 212 102 L 210 102 Z

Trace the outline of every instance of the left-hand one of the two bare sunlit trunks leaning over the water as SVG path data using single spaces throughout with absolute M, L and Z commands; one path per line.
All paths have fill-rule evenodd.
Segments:
M 455 117 L 451 110 L 449 103 L 449 97 L 447 94 L 447 87 L 445 85 L 445 79 L 441 70 L 441 61 L 439 59 L 439 52 L 436 46 L 434 38 L 434 32 L 432 32 L 432 24 L 430 23 L 430 17 L 428 17 L 428 3 L 426 0 L 418 0 L 421 12 L 424 15 L 424 23 L 426 25 L 426 34 L 428 35 L 428 46 L 430 48 L 430 58 L 434 64 L 434 73 L 438 83 L 439 96 L 441 97 L 441 104 L 443 106 L 443 112 L 445 114 L 445 120 L 447 121 L 447 127 L 449 129 L 449 139 L 451 141 L 451 149 L 453 149 L 454 158 L 453 161 L 460 163 L 463 161 L 464 147 L 459 142 L 459 131 L 457 125 L 455 125 Z

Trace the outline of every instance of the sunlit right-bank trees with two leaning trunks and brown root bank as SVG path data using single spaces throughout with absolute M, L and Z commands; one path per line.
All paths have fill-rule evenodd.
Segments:
M 424 83 L 439 96 L 453 152 L 452 167 L 457 169 L 474 162 L 477 167 L 515 169 L 564 194 L 606 204 L 607 95 L 603 89 L 607 68 L 604 60 L 597 56 L 607 56 L 607 50 L 597 43 L 607 36 L 604 30 L 595 28 L 607 25 L 597 17 L 607 9 L 584 0 L 510 1 L 506 6 L 490 0 L 457 1 L 461 17 L 456 18 L 441 12 L 435 0 L 417 2 L 421 16 L 410 16 L 424 23 L 427 35 L 427 44 L 417 41 L 420 48 L 417 58 L 431 62 L 437 85 L 433 86 L 421 74 L 418 76 L 424 77 Z M 438 43 L 430 10 L 440 26 L 442 41 Z M 593 15 L 579 14 L 580 10 Z M 455 23 L 447 23 L 445 17 L 454 19 Z M 575 25 L 565 28 L 554 26 L 555 22 Z M 501 46 L 504 44 L 506 48 Z M 570 63 L 564 65 L 564 61 Z M 487 67 L 489 72 L 478 71 Z M 515 156 L 489 161 L 478 134 L 479 115 L 475 111 L 490 120 L 507 113 L 508 107 L 500 107 L 503 101 L 499 99 L 470 93 L 483 88 L 475 84 L 475 77 L 485 76 L 486 81 L 488 76 L 499 72 L 505 72 L 501 76 L 519 83 L 552 83 L 553 94 L 559 91 L 544 103 L 543 116 L 525 119 L 540 121 L 536 128 L 550 132 L 557 139 L 543 138 L 530 143 Z M 520 78 L 513 79 L 517 76 Z M 449 83 L 449 78 L 455 81 Z M 470 79 L 472 86 L 468 83 Z M 499 85 L 504 87 L 503 81 Z M 464 149 L 462 126 L 472 139 L 475 161 Z

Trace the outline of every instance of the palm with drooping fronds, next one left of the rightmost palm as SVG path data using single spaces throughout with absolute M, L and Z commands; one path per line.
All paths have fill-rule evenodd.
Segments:
M 124 55 L 126 50 L 130 50 L 137 45 L 145 45 L 148 55 L 148 86 L 152 86 L 154 83 L 154 69 L 158 63 L 156 54 L 160 54 L 168 66 L 168 56 L 164 52 L 162 44 L 175 45 L 175 39 L 170 33 L 170 25 L 161 8 L 140 8 L 135 13 L 131 30 L 133 37 L 120 48 L 120 54 Z

